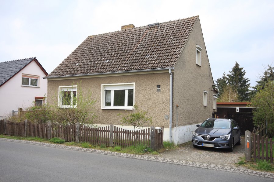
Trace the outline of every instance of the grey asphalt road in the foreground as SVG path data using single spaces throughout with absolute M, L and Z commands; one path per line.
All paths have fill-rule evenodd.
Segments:
M 0 140 L 0 181 L 247 181 L 271 178 Z

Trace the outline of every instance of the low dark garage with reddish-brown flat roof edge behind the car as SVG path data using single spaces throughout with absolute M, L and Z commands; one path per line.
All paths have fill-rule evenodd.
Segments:
M 253 131 L 253 107 L 250 102 L 217 102 L 216 117 L 232 118 L 240 126 L 241 133 Z

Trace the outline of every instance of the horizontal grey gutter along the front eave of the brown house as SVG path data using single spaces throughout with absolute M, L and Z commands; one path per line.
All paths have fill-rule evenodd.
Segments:
M 166 68 L 156 68 L 156 69 L 147 69 L 147 70 L 130 70 L 130 71 L 116 71 L 116 72 L 107 72 L 107 73 L 91 73 L 91 74 L 76 74 L 76 75 L 62 75 L 62 76 L 49 76 L 45 78 L 65 78 L 65 77 L 81 77 L 81 76 L 93 76 L 93 75 L 106 75 L 106 74 L 123 74 L 123 73 L 138 73 L 138 72 L 148 72 L 148 71 L 161 71 L 161 70 L 170 70 L 174 67 Z

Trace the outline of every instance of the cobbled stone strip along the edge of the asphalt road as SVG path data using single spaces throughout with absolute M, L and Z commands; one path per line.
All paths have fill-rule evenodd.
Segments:
M 104 151 L 104 150 L 97 150 L 97 149 L 87 149 L 87 148 L 81 148 L 76 146 L 65 146 L 65 145 L 52 144 L 52 143 L 41 143 L 41 142 L 34 142 L 34 141 L 27 141 L 27 140 L 15 140 L 15 139 L 6 139 L 6 138 L 0 138 L 0 140 L 17 142 L 17 143 L 29 143 L 33 145 L 48 146 L 48 147 L 55 147 L 55 148 L 61 148 L 61 149 L 71 149 L 71 150 L 77 150 L 77 151 L 83 151 L 83 152 L 99 153 L 99 154 L 105 154 L 105 155 L 111 155 L 111 156 L 128 157 L 133 159 L 150 160 L 155 162 L 164 162 L 164 163 L 171 163 L 171 164 L 177 164 L 177 165 L 183 165 L 183 166 L 200 167 L 205 169 L 228 171 L 233 173 L 241 173 L 241 174 L 268 177 L 268 178 L 274 179 L 273 173 L 254 171 L 254 170 L 245 169 L 245 168 L 228 167 L 228 166 L 221 166 L 221 165 L 214 165 L 214 164 L 183 161 L 183 160 L 174 160 L 174 159 L 167 159 L 167 158 L 161 158 L 161 157 L 155 157 L 155 156 L 118 153 L 118 152 L 111 152 L 111 151 Z

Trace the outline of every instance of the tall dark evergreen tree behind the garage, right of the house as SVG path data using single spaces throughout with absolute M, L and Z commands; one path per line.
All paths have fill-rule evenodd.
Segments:
M 232 67 L 232 70 L 229 71 L 230 74 L 227 74 L 227 82 L 233 88 L 236 88 L 239 94 L 239 101 L 247 101 L 249 100 L 249 79 L 245 78 L 245 70 L 241 68 L 240 65 L 236 62 Z

